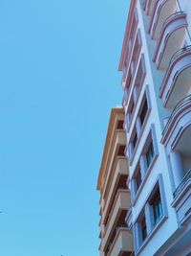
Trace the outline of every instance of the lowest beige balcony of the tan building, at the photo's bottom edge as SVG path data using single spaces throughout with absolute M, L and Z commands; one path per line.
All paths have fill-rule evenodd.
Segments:
M 130 256 L 134 250 L 133 244 L 133 237 L 128 228 L 119 227 L 107 256 Z

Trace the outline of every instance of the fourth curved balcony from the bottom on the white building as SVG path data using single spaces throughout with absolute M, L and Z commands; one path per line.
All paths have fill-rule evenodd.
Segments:
M 163 23 L 153 58 L 159 69 L 166 69 L 170 58 L 183 46 L 186 27 L 184 12 L 173 13 Z

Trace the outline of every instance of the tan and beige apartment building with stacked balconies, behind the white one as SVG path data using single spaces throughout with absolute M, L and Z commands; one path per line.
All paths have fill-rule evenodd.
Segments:
M 126 186 L 129 171 L 124 154 L 126 135 L 123 124 L 123 107 L 113 108 L 97 179 L 100 256 L 130 256 L 134 247 L 133 236 L 125 223 L 131 197 Z

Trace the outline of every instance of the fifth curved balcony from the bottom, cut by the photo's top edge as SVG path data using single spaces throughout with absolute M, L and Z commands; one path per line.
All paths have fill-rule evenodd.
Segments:
M 149 31 L 153 39 L 158 39 L 162 29 L 162 24 L 171 14 L 176 12 L 176 0 L 159 0 L 154 1 L 154 7 L 151 16 Z

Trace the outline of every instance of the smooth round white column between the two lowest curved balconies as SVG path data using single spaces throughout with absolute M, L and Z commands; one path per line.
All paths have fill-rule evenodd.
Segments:
M 184 175 L 181 155 L 178 151 L 171 151 L 169 156 L 174 176 L 175 187 L 177 188 L 180 185 L 180 182 Z

